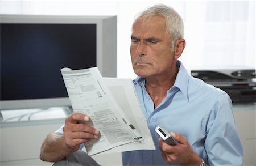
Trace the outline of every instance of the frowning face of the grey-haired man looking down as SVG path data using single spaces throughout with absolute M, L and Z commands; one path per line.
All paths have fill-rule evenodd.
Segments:
M 166 34 L 166 19 L 153 16 L 137 20 L 131 34 L 131 61 L 138 76 L 166 76 L 175 69 L 170 36 Z

